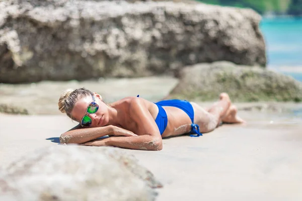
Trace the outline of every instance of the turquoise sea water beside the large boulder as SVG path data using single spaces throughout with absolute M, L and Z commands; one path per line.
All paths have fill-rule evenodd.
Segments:
M 263 18 L 268 68 L 302 81 L 302 18 Z

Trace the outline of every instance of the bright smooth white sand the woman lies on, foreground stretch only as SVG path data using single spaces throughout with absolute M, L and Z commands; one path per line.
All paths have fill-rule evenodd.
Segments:
M 247 125 L 166 139 L 162 151 L 125 151 L 163 182 L 158 200 L 302 200 L 302 120 L 240 114 Z M 46 139 L 58 140 L 73 125 L 63 115 L 0 114 L 1 167 L 36 148 L 58 146 Z

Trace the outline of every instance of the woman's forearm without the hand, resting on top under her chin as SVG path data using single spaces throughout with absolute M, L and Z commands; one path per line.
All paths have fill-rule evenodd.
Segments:
M 97 138 L 110 135 L 113 133 L 112 126 L 98 128 L 75 129 L 63 133 L 60 136 L 60 143 L 82 144 Z

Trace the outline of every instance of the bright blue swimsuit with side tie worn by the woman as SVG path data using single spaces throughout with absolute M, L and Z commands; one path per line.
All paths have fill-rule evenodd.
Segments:
M 161 135 L 164 133 L 167 124 L 168 124 L 168 117 L 167 113 L 164 110 L 163 106 L 170 106 L 170 107 L 175 107 L 183 110 L 187 115 L 190 117 L 192 124 L 191 124 L 191 132 L 190 135 L 191 137 L 199 137 L 202 134 L 199 132 L 199 126 L 194 124 L 194 110 L 192 105 L 187 101 L 187 100 L 178 100 L 178 99 L 173 99 L 173 100 L 161 100 L 160 102 L 155 103 L 158 108 L 159 108 L 159 113 L 156 117 L 156 124 L 159 127 L 159 130 L 161 132 Z

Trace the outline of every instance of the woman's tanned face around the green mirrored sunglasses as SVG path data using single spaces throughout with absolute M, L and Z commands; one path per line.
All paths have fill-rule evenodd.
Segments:
M 102 102 L 102 97 L 97 93 L 94 93 L 94 97 L 95 103 L 99 105 L 99 109 L 96 113 L 87 113 L 87 108 L 89 104 L 93 102 L 93 99 L 92 96 L 83 96 L 78 99 L 77 103 L 75 103 L 70 114 L 71 117 L 73 117 L 79 123 L 82 121 L 85 115 L 90 117 L 92 120 L 90 128 L 105 126 L 109 120 L 108 108 L 107 105 Z

